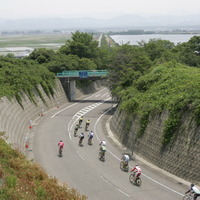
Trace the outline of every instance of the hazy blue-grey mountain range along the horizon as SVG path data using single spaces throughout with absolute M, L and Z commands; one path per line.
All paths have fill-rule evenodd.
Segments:
M 104 28 L 140 28 L 158 26 L 198 26 L 200 27 L 200 15 L 188 16 L 152 16 L 142 17 L 138 15 L 123 15 L 109 19 L 95 18 L 42 18 L 42 19 L 0 19 L 0 31 L 13 30 L 52 30 L 52 29 L 104 29 Z

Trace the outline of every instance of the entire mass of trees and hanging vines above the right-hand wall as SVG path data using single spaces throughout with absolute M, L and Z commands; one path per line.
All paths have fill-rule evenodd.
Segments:
M 126 44 L 113 52 L 110 89 L 123 111 L 140 116 L 138 137 L 144 134 L 150 115 L 164 110 L 169 111 L 169 117 L 163 147 L 175 138 L 184 112 L 190 111 L 200 122 L 199 44 L 196 36 L 177 46 L 152 39 L 137 46 Z

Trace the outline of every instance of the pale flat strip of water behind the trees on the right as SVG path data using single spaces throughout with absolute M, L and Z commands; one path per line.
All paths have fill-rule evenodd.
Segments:
M 193 36 L 200 36 L 200 34 L 151 34 L 151 35 L 111 35 L 110 37 L 118 44 L 126 44 L 137 45 L 138 42 L 144 40 L 145 42 L 149 42 L 150 39 L 162 39 L 169 40 L 173 42 L 175 45 L 178 43 L 188 42 L 189 39 Z

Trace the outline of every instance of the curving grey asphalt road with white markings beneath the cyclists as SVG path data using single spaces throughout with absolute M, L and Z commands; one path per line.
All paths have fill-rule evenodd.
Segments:
M 178 200 L 188 189 L 181 181 L 162 173 L 141 160 L 131 160 L 130 167 L 137 163 L 142 168 L 142 185 L 129 182 L 130 172 L 123 172 L 120 158 L 123 153 L 109 129 L 105 129 L 109 110 L 114 106 L 107 88 L 84 99 L 71 102 L 52 110 L 37 125 L 34 136 L 33 154 L 50 176 L 58 178 L 70 187 L 76 188 L 89 200 Z M 83 146 L 74 137 L 74 126 L 83 115 L 84 121 L 78 134 L 84 132 Z M 93 145 L 87 144 L 89 131 L 84 131 L 87 119 L 91 120 L 89 130 L 94 132 Z M 58 157 L 58 142 L 65 143 L 63 157 Z M 98 159 L 99 143 L 107 141 L 105 162 Z M 183 166 L 184 167 L 184 166 Z

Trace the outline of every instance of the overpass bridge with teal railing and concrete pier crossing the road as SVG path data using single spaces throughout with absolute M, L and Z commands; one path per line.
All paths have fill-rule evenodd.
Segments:
M 107 78 L 109 70 L 73 70 L 57 73 L 69 101 L 76 98 L 76 80 L 99 80 Z

